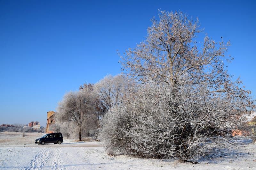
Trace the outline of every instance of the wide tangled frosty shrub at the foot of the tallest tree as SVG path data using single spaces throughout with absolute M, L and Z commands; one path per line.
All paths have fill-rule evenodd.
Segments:
M 147 83 L 123 105 L 111 107 L 100 131 L 108 153 L 188 160 L 232 142 L 232 127 L 244 122 L 235 107 L 204 87 L 180 87 Z

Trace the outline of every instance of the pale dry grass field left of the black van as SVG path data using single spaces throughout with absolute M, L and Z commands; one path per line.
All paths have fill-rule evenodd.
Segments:
M 25 133 L 23 137 L 23 132 L 1 132 L 0 145 L 35 144 L 35 140 L 42 136 L 42 133 Z

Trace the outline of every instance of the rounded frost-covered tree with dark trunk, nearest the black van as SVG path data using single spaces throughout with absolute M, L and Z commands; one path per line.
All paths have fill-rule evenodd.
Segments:
M 97 129 L 97 98 L 92 91 L 92 85 L 88 85 L 77 92 L 66 93 L 57 109 L 57 121 L 73 122 L 79 141 L 84 132 Z

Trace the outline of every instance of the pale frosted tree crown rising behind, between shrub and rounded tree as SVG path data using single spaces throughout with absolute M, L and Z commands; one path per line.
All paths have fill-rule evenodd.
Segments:
M 121 104 L 125 94 L 132 91 L 134 85 L 135 81 L 123 75 L 108 75 L 95 84 L 94 92 L 108 110 L 112 106 Z

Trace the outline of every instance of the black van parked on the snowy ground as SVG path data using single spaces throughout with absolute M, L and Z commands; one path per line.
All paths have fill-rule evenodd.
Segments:
M 36 139 L 35 144 L 61 144 L 63 137 L 61 133 L 48 133 L 41 138 Z

